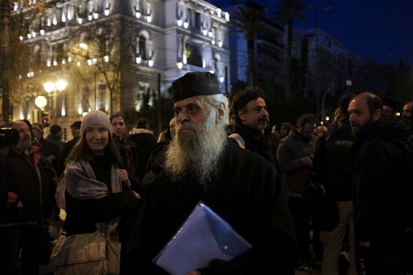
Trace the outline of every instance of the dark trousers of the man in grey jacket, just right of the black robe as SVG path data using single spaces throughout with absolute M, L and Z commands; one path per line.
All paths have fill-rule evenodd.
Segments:
M 298 260 L 310 265 L 310 228 L 308 213 L 304 210 L 303 200 L 300 197 L 289 197 L 288 206 L 293 215 L 294 229 L 298 243 Z

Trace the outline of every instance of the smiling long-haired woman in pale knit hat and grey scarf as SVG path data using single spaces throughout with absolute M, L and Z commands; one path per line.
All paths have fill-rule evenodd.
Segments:
M 118 234 L 126 248 L 129 236 L 123 234 L 121 216 L 138 211 L 140 195 L 130 189 L 127 171 L 119 169 L 122 159 L 112 140 L 112 126 L 103 111 L 89 111 L 81 124 L 81 140 L 69 157 L 62 182 L 65 184 L 66 219 L 63 233 L 92 233 L 98 230 Z M 59 201 L 59 197 L 58 197 Z M 123 250 L 122 250 L 123 251 Z M 120 274 L 123 272 L 120 253 Z

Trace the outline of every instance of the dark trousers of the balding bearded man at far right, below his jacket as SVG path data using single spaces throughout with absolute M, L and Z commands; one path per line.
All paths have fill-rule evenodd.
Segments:
M 366 275 L 413 274 L 413 255 L 394 255 L 361 247 Z

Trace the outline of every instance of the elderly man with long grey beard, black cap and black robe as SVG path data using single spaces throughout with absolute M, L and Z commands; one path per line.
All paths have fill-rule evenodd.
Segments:
M 228 100 L 218 79 L 190 72 L 172 84 L 176 136 L 129 239 L 128 274 L 168 274 L 152 259 L 200 200 L 253 248 L 189 274 L 294 274 L 296 241 L 282 184 L 269 162 L 227 142 Z

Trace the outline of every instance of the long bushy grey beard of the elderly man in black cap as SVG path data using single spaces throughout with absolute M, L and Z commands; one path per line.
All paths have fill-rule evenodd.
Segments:
M 169 144 L 165 170 L 173 181 L 195 179 L 204 190 L 211 190 L 225 146 L 225 128 L 216 122 L 215 115 L 198 126 L 184 122 L 176 127 Z

